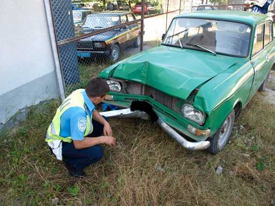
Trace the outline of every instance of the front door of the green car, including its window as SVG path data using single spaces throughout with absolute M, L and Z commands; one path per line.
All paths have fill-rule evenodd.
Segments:
M 264 80 L 267 69 L 266 56 L 267 53 L 264 49 L 264 23 L 261 23 L 257 26 L 254 35 L 251 58 L 251 64 L 254 68 L 254 79 L 251 88 L 250 98 L 257 92 L 257 90 L 259 89 L 260 85 Z

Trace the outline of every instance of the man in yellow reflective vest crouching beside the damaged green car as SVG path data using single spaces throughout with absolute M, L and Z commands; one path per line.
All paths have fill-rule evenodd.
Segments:
M 108 119 L 95 110 L 108 92 L 105 80 L 90 80 L 85 89 L 65 98 L 48 128 L 46 142 L 72 176 L 84 176 L 83 169 L 102 158 L 99 144 L 115 145 Z

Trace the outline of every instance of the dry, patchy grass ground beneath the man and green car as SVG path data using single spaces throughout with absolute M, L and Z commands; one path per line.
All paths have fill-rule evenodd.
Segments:
M 262 98 L 247 105 L 217 155 L 186 151 L 149 121 L 111 120 L 117 145 L 105 146 L 81 179 L 69 176 L 44 142 L 60 100 L 34 107 L 20 127 L 0 135 L 0 206 L 271 205 L 275 107 Z

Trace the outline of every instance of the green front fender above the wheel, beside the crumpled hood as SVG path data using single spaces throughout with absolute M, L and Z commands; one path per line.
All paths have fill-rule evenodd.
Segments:
M 254 70 L 248 61 L 217 75 L 199 89 L 194 107 L 208 114 L 205 127 L 217 130 L 238 102 L 246 105 L 253 77 Z

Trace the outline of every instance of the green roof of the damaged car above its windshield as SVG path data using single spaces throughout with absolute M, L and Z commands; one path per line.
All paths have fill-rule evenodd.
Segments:
M 209 18 L 226 21 L 242 22 L 251 26 L 256 26 L 260 22 L 265 20 L 271 20 L 272 18 L 258 13 L 243 12 L 243 11 L 226 11 L 226 10 L 207 10 L 207 11 L 196 11 L 191 13 L 184 13 L 176 16 L 188 17 L 188 18 Z

